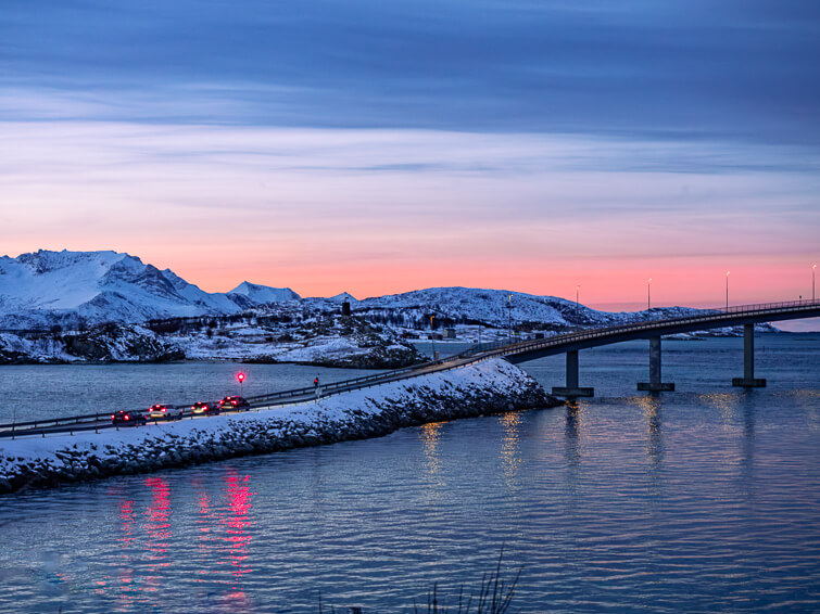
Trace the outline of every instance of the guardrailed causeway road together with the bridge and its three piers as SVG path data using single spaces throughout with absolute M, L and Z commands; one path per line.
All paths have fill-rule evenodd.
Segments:
M 520 363 L 544 356 L 565 353 L 567 354 L 567 385 L 553 388 L 553 393 L 567 397 L 591 396 L 592 388 L 581 388 L 578 386 L 578 350 L 640 338 L 649 340 L 651 381 L 648 384 L 639 384 L 639 389 L 673 389 L 672 384 L 666 384 L 660 381 L 660 336 L 736 325 L 744 327 L 745 351 L 744 378 L 736 379 L 734 384 L 741 386 L 765 385 L 765 380 L 754 378 L 754 324 L 815 317 L 820 317 L 820 300 L 767 303 L 730 307 L 729 309 L 702 311 L 683 318 L 646 320 L 618 327 L 588 329 L 546 338 L 515 343 L 499 342 L 481 344 L 443 360 L 335 382 L 321 386 L 318 392 L 311 386 L 248 397 L 248 400 L 251 404 L 251 410 L 283 407 L 311 402 L 318 397 L 327 397 L 389 382 L 407 380 L 427 373 L 446 371 L 488 358 L 502 357 L 513 363 Z M 192 415 L 189 409 L 190 405 L 177 406 L 184 409 L 182 419 L 199 420 L 207 418 L 204 415 Z M 115 426 L 111 423 L 111 411 L 106 411 L 50 420 L 18 422 L 16 424 L 0 424 L 0 438 L 31 435 L 45 437 L 47 434 L 114 428 Z M 159 426 L 162 422 L 151 422 L 149 426 Z

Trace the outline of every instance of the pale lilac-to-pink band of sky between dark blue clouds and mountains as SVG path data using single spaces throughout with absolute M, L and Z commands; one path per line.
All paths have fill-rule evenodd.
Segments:
M 3 133 L 4 254 L 116 250 L 212 292 L 573 299 L 580 284 L 588 305 L 643 305 L 653 278 L 653 305 L 716 306 L 727 270 L 733 304 L 809 297 L 820 260 L 820 179 L 769 164 L 798 150 L 123 123 Z M 670 169 L 698 156 L 733 164 Z

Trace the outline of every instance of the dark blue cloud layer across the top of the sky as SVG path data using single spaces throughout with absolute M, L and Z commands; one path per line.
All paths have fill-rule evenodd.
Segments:
M 820 144 L 805 0 L 5 0 L 3 15 L 4 87 L 111 118 Z

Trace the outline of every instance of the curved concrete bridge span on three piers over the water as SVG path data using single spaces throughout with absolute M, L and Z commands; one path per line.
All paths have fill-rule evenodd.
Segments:
M 633 324 L 591 329 L 577 333 L 557 335 L 544 340 L 523 341 L 488 348 L 487 354 L 503 356 L 514 363 L 534 360 L 556 354 L 567 355 L 566 385 L 553 388 L 553 394 L 565 397 L 592 396 L 593 388 L 581 387 L 578 376 L 578 351 L 632 340 L 649 342 L 649 378 L 640 382 L 639 391 L 673 391 L 674 384 L 661 378 L 660 337 L 678 333 L 691 333 L 724 327 L 743 327 L 743 376 L 734 378 L 732 385 L 759 387 L 766 380 L 755 378 L 755 324 L 820 317 L 820 300 L 795 300 L 791 303 L 766 303 L 744 305 L 728 309 L 703 311 L 684 318 L 647 320 Z

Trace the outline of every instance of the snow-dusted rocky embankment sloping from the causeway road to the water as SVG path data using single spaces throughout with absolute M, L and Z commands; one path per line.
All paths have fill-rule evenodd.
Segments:
M 517 367 L 490 359 L 299 406 L 99 434 L 0 439 L 0 493 L 381 437 L 428 422 L 562 404 Z

